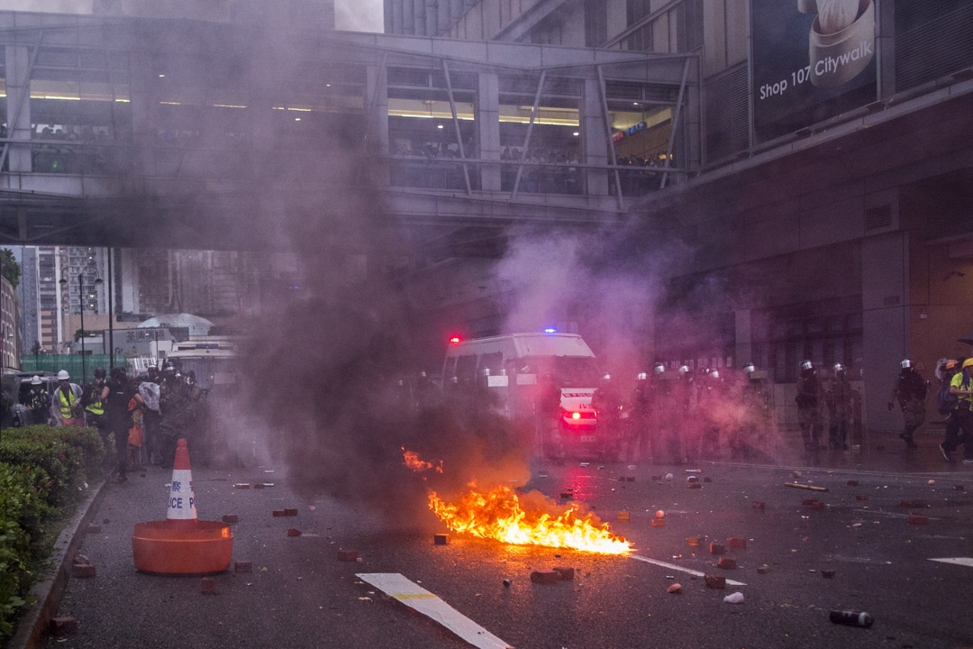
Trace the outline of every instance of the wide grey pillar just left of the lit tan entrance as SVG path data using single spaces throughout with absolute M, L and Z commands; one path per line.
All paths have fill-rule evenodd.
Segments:
M 899 361 L 910 351 L 908 233 L 862 239 L 861 283 L 864 425 L 870 432 L 901 431 L 901 413 L 886 404 Z

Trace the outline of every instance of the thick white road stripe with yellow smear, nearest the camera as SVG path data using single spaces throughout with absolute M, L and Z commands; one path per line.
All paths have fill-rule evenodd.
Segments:
M 438 622 L 478 649 L 513 649 L 511 645 L 398 572 L 362 572 L 355 576 Z

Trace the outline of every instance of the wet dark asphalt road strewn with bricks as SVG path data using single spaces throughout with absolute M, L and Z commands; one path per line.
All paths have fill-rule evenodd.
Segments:
M 973 469 L 940 464 L 925 472 L 701 464 L 686 467 L 568 463 L 535 471 L 531 484 L 559 497 L 568 487 L 631 540 L 634 555 L 607 557 L 506 546 L 386 528 L 368 512 L 326 496 L 301 499 L 282 467 L 194 470 L 199 518 L 236 514 L 234 560 L 253 573 L 163 577 L 133 567 L 135 523 L 164 516 L 170 474 L 150 468 L 112 485 L 82 553 L 97 576 L 72 579 L 60 615 L 79 631 L 49 647 L 468 647 L 439 623 L 384 595 L 356 573 L 400 573 L 438 595 L 512 647 L 938 647 L 973 646 Z M 795 475 L 795 470 L 800 475 Z M 273 471 L 273 473 L 265 473 Z M 673 474 L 671 481 L 665 479 Z M 686 488 L 687 476 L 711 482 Z M 619 482 L 631 476 L 633 482 Z M 654 481 L 653 476 L 663 476 Z M 930 485 L 929 481 L 935 484 Z M 858 486 L 848 486 L 858 481 Z M 262 490 L 234 483 L 272 482 Z M 796 482 L 826 492 L 785 487 Z M 960 490 L 959 487 L 962 487 Z M 802 504 L 817 498 L 823 509 Z M 906 509 L 902 501 L 913 501 Z M 754 507 L 765 503 L 765 509 Z M 299 510 L 296 518 L 271 511 Z M 665 526 L 653 526 L 657 510 Z M 631 521 L 617 513 L 631 512 Z M 910 515 L 928 523 L 910 524 Z M 429 517 L 433 515 L 429 513 Z M 287 529 L 302 530 L 288 537 Z M 445 530 L 441 530 L 445 531 Z M 705 536 L 699 547 L 687 537 Z M 736 569 L 720 569 L 709 541 L 728 548 Z M 338 560 L 353 549 L 361 561 Z M 930 559 L 967 558 L 967 564 Z M 656 561 L 656 562 L 649 562 Z M 668 565 L 664 565 L 668 564 Z M 573 581 L 533 584 L 531 570 L 575 568 Z M 766 565 L 766 572 L 758 566 Z M 834 570 L 832 578 L 822 570 Z M 744 586 L 713 590 L 696 573 Z M 504 586 L 503 580 L 511 580 Z M 681 595 L 667 594 L 673 584 Z M 741 593 L 739 604 L 724 602 Z M 870 629 L 832 624 L 831 609 L 867 611 Z

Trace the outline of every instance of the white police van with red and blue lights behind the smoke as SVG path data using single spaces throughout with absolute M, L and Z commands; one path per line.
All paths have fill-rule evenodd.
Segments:
M 572 454 L 596 451 L 592 397 L 600 376 L 595 353 L 577 334 L 557 332 L 507 334 L 489 338 L 453 338 L 443 365 L 444 388 L 484 385 L 508 415 L 534 416 L 538 385 L 550 376 L 560 388 L 559 425 Z

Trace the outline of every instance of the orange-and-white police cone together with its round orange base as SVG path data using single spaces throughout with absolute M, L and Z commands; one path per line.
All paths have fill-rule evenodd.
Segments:
M 135 567 L 156 574 L 209 574 L 230 567 L 230 525 L 198 521 L 193 472 L 186 440 L 179 440 L 164 521 L 135 523 L 131 550 Z

